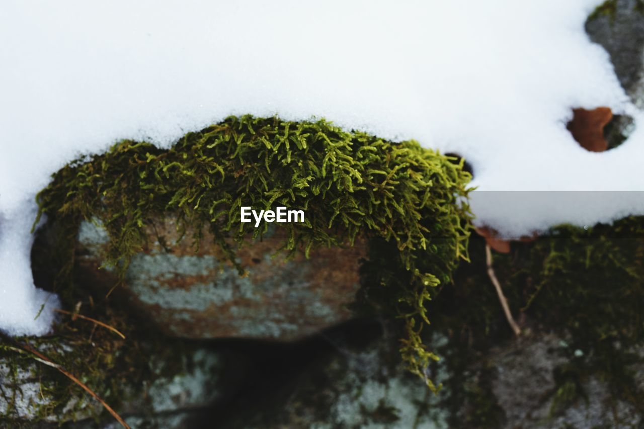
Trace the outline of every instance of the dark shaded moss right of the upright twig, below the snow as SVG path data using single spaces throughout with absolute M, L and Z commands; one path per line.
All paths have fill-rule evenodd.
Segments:
M 567 334 L 565 391 L 597 376 L 614 398 L 644 411 L 633 379 L 633 365 L 644 361 L 644 218 L 589 231 L 560 227 L 526 257 L 530 263 L 515 273 L 516 281 L 531 280 L 522 311 Z

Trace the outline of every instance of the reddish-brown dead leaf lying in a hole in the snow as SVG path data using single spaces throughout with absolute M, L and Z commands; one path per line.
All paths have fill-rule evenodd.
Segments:
M 582 148 L 591 152 L 603 152 L 608 149 L 608 142 L 603 136 L 603 128 L 611 122 L 612 111 L 607 107 L 593 110 L 573 109 L 573 120 L 566 128 Z

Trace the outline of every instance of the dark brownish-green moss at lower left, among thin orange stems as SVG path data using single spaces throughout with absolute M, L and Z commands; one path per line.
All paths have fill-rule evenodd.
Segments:
M 97 421 L 112 420 L 81 386 L 56 368 L 33 359 L 32 354 L 17 351 L 22 344 L 61 365 L 116 409 L 122 403 L 140 400 L 137 392 L 146 381 L 179 371 L 182 350 L 187 347 L 184 342 L 162 338 L 141 327 L 133 329 L 124 311 L 106 305 L 100 294 L 86 291 L 77 298 L 84 304 L 82 314 L 91 314 L 116 327 L 126 339 L 88 321 L 66 316 L 51 336 L 15 338 L 12 343 L 0 343 L 0 364 L 8 368 L 0 386 L 3 398 L 0 403 L 6 405 L 4 412 L 0 412 L 0 426 L 31 427 L 44 420 L 62 424 L 88 417 Z M 161 347 L 169 342 L 172 348 Z M 152 354 L 166 359 L 168 364 L 163 372 L 151 368 L 149 356 Z

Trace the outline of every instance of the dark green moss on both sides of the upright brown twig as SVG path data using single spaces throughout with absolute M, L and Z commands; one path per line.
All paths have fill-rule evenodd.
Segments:
M 469 245 L 471 263 L 460 265 L 453 285 L 442 287 L 428 305 L 432 331 L 450 338 L 437 351 L 453 374 L 444 401 L 453 415 L 472 389 L 493 403 L 489 383 L 468 385 L 463 374 L 488 361 L 491 348 L 513 336 L 486 274 L 484 240 L 473 238 Z M 556 350 L 565 363 L 553 373 L 553 414 L 583 401 L 584 386 L 594 378 L 606 383 L 614 404 L 625 401 L 644 416 L 643 386 L 636 381 L 644 365 L 644 217 L 587 230 L 553 228 L 535 242 L 513 243 L 509 254 L 495 254 L 494 269 L 515 318 L 522 321 L 522 336 L 554 333 L 565 340 Z M 498 410 L 490 411 L 484 415 L 478 408 L 462 417 L 484 427 L 480 419 L 498 420 Z

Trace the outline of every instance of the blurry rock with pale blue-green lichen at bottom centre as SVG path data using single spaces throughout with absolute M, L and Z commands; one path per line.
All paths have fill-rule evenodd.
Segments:
M 360 335 L 327 337 L 337 353 L 305 368 L 281 403 L 236 415 L 223 427 L 448 428 L 448 413 L 437 406 L 439 398 L 402 367 L 397 339 L 385 336 L 357 346 L 355 337 Z M 440 365 L 434 378 L 445 377 Z

